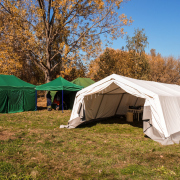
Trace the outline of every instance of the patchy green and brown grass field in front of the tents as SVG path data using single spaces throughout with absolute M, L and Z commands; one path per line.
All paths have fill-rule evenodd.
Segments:
M 180 145 L 120 118 L 60 129 L 70 114 L 0 114 L 0 179 L 180 179 Z

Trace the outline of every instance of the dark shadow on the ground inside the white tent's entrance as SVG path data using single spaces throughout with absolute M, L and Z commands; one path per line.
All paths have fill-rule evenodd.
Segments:
M 129 124 L 133 127 L 143 128 L 143 121 L 134 120 L 133 122 L 126 121 L 126 117 L 109 117 L 109 118 L 102 118 L 102 119 L 93 119 L 87 122 L 84 122 L 77 126 L 76 128 L 85 128 L 85 127 L 93 127 L 96 124 Z

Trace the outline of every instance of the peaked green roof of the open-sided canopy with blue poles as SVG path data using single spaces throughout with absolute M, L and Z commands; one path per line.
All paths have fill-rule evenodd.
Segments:
M 58 90 L 67 90 L 67 91 L 79 91 L 83 87 L 78 86 L 76 84 L 73 84 L 67 80 L 65 80 L 62 77 L 58 77 L 57 79 L 46 83 L 42 84 L 40 86 L 36 86 L 36 90 L 49 90 L 49 91 L 58 91 Z

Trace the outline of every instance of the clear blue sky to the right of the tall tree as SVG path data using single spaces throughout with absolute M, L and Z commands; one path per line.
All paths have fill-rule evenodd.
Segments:
M 144 29 L 151 49 L 163 57 L 180 58 L 180 0 L 130 0 L 123 3 L 119 13 L 132 17 L 134 22 L 125 27 L 127 35 L 134 36 L 134 30 Z M 125 38 L 118 38 L 109 46 L 121 49 L 126 46 Z

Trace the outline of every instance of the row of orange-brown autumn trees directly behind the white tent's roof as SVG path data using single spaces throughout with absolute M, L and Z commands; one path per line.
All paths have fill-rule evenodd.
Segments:
M 180 84 L 180 61 L 151 52 L 147 55 L 106 48 L 90 63 L 88 76 L 97 81 L 115 73 L 135 79 Z

